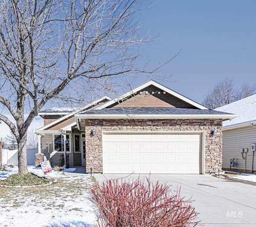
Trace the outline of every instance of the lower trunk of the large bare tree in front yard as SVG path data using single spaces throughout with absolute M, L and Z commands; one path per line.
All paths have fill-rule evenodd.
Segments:
M 24 135 L 20 141 L 18 141 L 18 163 L 19 163 L 19 173 L 28 173 L 27 167 L 27 146 L 26 146 L 26 136 Z

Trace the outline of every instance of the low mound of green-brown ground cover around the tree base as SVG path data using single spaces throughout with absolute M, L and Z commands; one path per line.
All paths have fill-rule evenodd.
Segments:
M 0 181 L 0 184 L 7 186 L 32 186 L 32 185 L 43 185 L 47 184 L 51 179 L 45 177 L 38 177 L 34 173 L 16 173 L 10 175 L 6 180 Z

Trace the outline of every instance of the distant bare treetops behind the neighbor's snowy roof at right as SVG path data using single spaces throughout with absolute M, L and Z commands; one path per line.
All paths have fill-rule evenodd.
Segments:
M 242 85 L 240 88 L 234 86 L 232 79 L 225 79 L 219 82 L 212 90 L 209 90 L 204 98 L 204 106 L 215 109 L 256 94 L 256 85 Z

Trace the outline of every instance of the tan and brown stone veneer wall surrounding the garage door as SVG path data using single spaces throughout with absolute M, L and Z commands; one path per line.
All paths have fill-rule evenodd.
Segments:
M 216 128 L 217 135 L 211 135 Z M 96 135 L 92 135 L 92 129 Z M 222 168 L 222 119 L 86 119 L 86 171 L 102 173 L 102 131 L 206 131 L 205 173 Z

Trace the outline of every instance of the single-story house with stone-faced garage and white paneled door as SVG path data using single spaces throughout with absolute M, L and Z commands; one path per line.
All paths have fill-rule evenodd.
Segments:
M 209 110 L 153 80 L 104 101 L 38 129 L 42 153 L 68 153 L 70 166 L 81 163 L 93 173 L 222 168 L 222 121 L 236 115 Z

